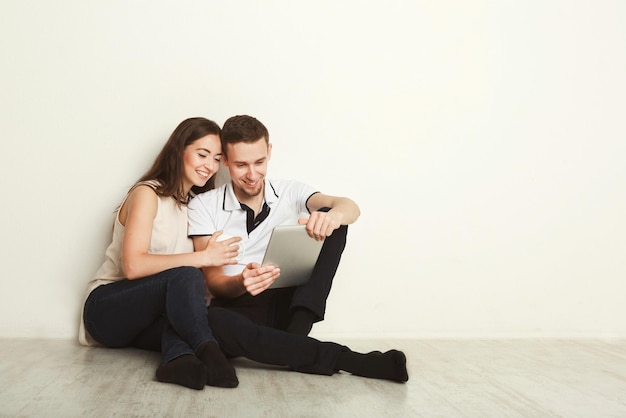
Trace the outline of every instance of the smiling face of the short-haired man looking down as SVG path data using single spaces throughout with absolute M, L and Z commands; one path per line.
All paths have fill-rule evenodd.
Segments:
M 256 142 L 238 142 L 229 144 L 228 158 L 224 156 L 224 165 L 228 167 L 233 182 L 235 195 L 240 202 L 253 199 L 263 193 L 267 162 L 272 154 L 272 144 L 266 144 L 265 138 Z

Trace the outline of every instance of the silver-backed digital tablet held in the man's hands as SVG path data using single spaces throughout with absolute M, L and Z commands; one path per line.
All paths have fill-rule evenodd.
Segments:
M 265 250 L 263 264 L 280 268 L 280 276 L 269 289 L 300 286 L 309 281 L 324 241 L 311 238 L 305 225 L 274 228 Z

